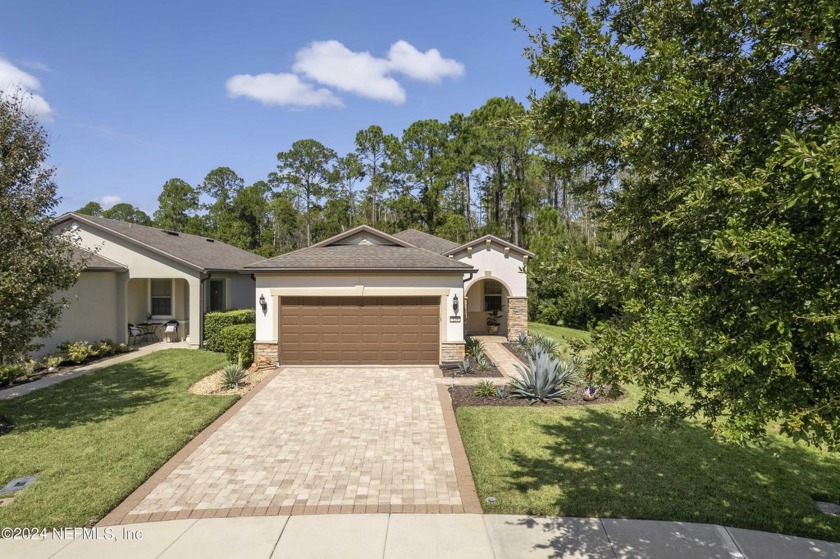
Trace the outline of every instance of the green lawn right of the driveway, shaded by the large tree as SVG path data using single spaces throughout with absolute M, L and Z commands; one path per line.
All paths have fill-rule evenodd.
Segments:
M 486 512 L 711 522 L 840 541 L 840 454 L 772 435 L 729 446 L 689 425 L 628 424 L 618 403 L 568 408 L 467 407 L 461 436 Z M 498 499 L 488 504 L 489 496 Z

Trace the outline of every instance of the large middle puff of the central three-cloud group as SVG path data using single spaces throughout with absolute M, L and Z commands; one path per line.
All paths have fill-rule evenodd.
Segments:
M 405 90 L 388 76 L 388 60 L 369 52 L 353 52 L 338 41 L 314 41 L 297 52 L 295 72 L 329 85 L 378 101 L 402 103 Z

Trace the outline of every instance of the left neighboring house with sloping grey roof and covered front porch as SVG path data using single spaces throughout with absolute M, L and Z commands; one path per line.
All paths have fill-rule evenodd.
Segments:
M 80 240 L 88 262 L 66 293 L 69 308 L 38 355 L 63 341 L 128 341 L 128 324 L 177 320 L 178 335 L 201 344 L 203 313 L 250 308 L 254 280 L 239 273 L 257 254 L 207 237 L 75 213 L 56 234 Z

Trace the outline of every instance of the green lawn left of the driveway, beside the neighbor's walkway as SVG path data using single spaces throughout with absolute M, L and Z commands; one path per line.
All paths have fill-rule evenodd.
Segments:
M 0 483 L 38 481 L 0 508 L 0 526 L 86 526 L 102 518 L 236 397 L 197 396 L 219 353 L 171 349 L 0 402 Z

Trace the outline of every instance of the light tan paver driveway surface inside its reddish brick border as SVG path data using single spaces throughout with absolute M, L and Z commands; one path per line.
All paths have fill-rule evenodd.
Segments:
M 124 522 L 291 509 L 463 511 L 434 369 L 287 368 Z

